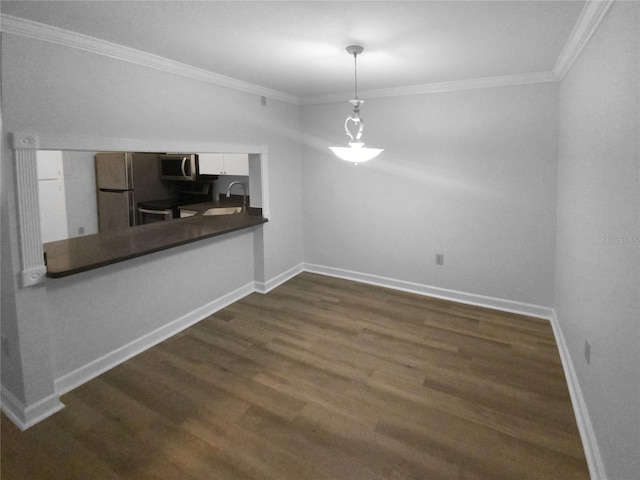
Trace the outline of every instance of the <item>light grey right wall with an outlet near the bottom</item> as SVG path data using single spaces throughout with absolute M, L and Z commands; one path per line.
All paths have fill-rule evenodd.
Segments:
M 556 310 L 608 480 L 640 472 L 639 25 L 615 2 L 560 89 Z

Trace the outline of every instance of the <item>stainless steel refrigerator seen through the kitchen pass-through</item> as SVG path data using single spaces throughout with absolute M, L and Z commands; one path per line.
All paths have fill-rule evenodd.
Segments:
M 100 233 L 138 225 L 138 203 L 176 195 L 174 186 L 160 179 L 158 154 L 97 153 L 95 165 Z

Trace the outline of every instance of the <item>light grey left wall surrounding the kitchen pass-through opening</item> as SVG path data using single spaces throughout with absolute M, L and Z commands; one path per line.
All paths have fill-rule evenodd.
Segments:
M 7 237 L 13 247 L 2 249 L 2 331 L 10 337 L 2 385 L 18 401 L 38 402 L 52 393 L 53 379 L 252 283 L 255 233 L 241 231 L 18 288 L 15 192 L 13 180 L 4 180 L 14 178 L 6 132 L 264 145 L 271 219 L 258 227 L 264 249 L 259 280 L 301 263 L 297 106 L 269 100 L 263 107 L 259 96 L 4 33 L 2 76 L 2 235 L 3 246 Z M 7 265 L 13 277 L 5 276 Z

